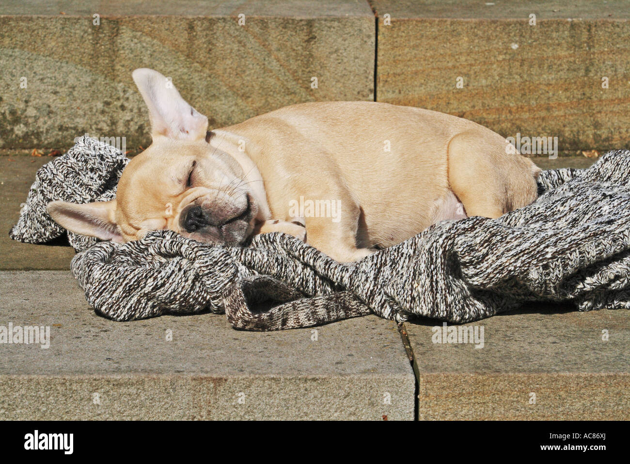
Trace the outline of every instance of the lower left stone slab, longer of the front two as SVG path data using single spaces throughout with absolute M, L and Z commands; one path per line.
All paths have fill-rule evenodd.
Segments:
M 316 332 L 236 331 L 220 314 L 119 323 L 67 271 L 0 272 L 0 294 L 0 326 L 50 326 L 49 348 L 0 343 L 3 419 L 413 420 L 410 362 L 376 316 Z

